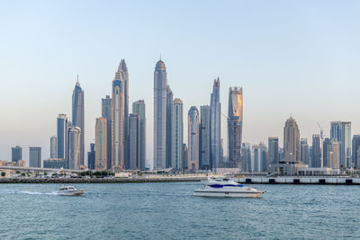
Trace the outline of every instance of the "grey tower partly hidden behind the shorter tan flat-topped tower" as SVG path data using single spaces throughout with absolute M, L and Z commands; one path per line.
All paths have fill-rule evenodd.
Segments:
M 102 118 L 106 119 L 106 157 L 107 168 L 112 168 L 112 99 L 109 95 L 106 95 L 102 99 Z

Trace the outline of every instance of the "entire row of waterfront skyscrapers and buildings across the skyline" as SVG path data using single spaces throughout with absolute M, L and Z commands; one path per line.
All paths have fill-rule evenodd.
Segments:
M 121 59 L 112 80 L 111 94 L 102 99 L 101 117 L 95 120 L 94 143 L 87 153 L 89 169 L 118 172 L 149 168 L 145 102 L 132 102 L 130 112 L 129 85 L 128 67 Z M 57 135 L 50 138 L 49 159 L 41 161 L 41 148 L 30 147 L 31 167 L 86 168 L 84 104 L 84 91 L 77 78 L 71 121 L 66 114 L 58 114 Z M 221 111 L 219 77 L 213 81 L 209 104 L 192 106 L 187 117 L 184 116 L 184 103 L 174 97 L 161 59 L 154 70 L 153 110 L 155 170 L 292 174 L 296 167 L 305 173 L 307 169 L 312 172 L 325 168 L 348 170 L 360 164 L 360 135 L 351 135 L 349 121 L 332 121 L 330 136 L 326 138 L 320 128 L 320 134 L 312 135 L 310 143 L 307 138 L 301 138 L 297 122 L 290 117 L 284 125 L 284 146 L 279 146 L 278 137 L 269 137 L 267 146 L 263 142 L 243 142 L 243 89 L 229 88 L 226 116 Z M 221 118 L 227 120 L 227 156 L 224 156 L 221 138 Z M 25 163 L 22 147 L 12 147 L 12 162 L 14 165 Z

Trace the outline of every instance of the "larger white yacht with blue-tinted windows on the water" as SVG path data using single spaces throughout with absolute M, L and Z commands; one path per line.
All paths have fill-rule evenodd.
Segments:
M 202 189 L 195 189 L 194 196 L 200 197 L 228 197 L 228 198 L 258 198 L 266 191 L 244 186 L 233 180 L 216 180 L 208 178 L 203 182 Z

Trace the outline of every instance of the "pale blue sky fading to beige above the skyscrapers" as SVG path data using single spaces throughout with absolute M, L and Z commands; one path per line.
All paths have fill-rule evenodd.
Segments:
M 332 120 L 360 132 L 359 1 L 1 1 L 0 159 L 11 147 L 42 147 L 58 113 L 71 118 L 76 75 L 85 91 L 85 150 L 94 141 L 101 99 L 121 58 L 130 103 L 147 108 L 147 158 L 153 159 L 153 72 L 159 56 L 187 111 L 210 104 L 220 77 L 221 112 L 230 86 L 244 93 L 243 141 L 267 143 L 297 121 L 301 138 L 329 136 Z M 131 109 L 131 107 L 130 107 Z M 221 135 L 227 152 L 226 118 Z

